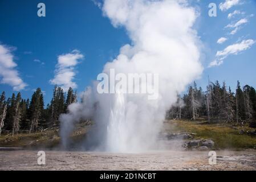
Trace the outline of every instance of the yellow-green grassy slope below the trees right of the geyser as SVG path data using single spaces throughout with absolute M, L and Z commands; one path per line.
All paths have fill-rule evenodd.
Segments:
M 254 131 L 248 126 L 235 126 L 232 129 L 229 123 L 206 123 L 194 121 L 173 121 L 176 131 L 186 133 L 196 133 L 196 139 L 212 139 L 217 148 L 241 150 L 246 148 L 255 148 L 256 137 L 248 134 L 240 134 L 241 130 Z

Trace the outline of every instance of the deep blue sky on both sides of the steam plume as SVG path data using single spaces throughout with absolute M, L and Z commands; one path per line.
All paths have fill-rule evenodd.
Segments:
M 46 5 L 46 17 L 37 16 L 40 2 Z M 205 68 L 201 78 L 196 80 L 198 85 L 205 88 L 209 75 L 210 80 L 226 81 L 232 89 L 235 89 L 237 80 L 242 85 L 256 87 L 256 44 L 253 42 L 256 40 L 256 1 L 241 0 L 225 11 L 218 7 L 217 17 L 208 16 L 210 2 L 219 6 L 225 0 L 191 1 L 192 6 L 200 11 L 194 28 L 202 42 L 201 61 Z M 227 18 L 234 11 L 237 14 Z M 246 19 L 246 23 L 236 24 L 241 19 Z M 0 45 L 14 56 L 13 61 L 17 66 L 13 69 L 27 84 L 21 90 L 23 98 L 30 98 L 34 89 L 40 87 L 44 91 L 46 103 L 52 97 L 54 85 L 50 80 L 60 69 L 60 65 L 57 65 L 60 55 L 83 55 L 83 58 L 80 57 L 73 66 L 68 67 L 75 73 L 72 82 L 77 85 L 76 90 L 82 92 L 96 80 L 104 64 L 119 54 L 120 47 L 131 42 L 124 28 L 113 27 L 93 1 L 2 0 L 0 22 Z M 231 35 L 235 27 L 237 32 Z M 218 44 L 217 40 L 222 37 L 227 39 L 226 42 Z M 245 42 L 241 45 L 243 40 Z M 236 46 L 232 47 L 234 44 Z M 217 51 L 221 56 L 216 56 Z M 209 68 L 212 61 L 220 63 L 222 59 L 222 64 Z M 7 96 L 17 93 L 13 88 L 8 82 L 0 84 L 0 91 L 5 90 Z

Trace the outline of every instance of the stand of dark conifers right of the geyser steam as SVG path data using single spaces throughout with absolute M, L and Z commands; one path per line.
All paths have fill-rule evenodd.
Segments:
M 256 119 L 256 92 L 252 86 L 241 87 L 239 81 L 235 92 L 223 82 L 209 82 L 206 91 L 197 88 L 196 82 L 189 86 L 183 97 L 166 114 L 169 119 L 207 118 L 219 122 L 250 122 Z

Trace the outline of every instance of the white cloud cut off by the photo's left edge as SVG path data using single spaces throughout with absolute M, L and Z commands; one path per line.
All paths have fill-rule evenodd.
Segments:
M 27 84 L 19 77 L 19 73 L 15 69 L 17 64 L 13 59 L 14 56 L 11 54 L 10 48 L 0 44 L 0 82 L 13 86 L 13 90 L 18 91 L 25 89 Z

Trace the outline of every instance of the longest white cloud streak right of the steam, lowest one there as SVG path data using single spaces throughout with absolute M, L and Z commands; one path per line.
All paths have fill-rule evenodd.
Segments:
M 209 64 L 209 67 L 221 65 L 227 56 L 237 55 L 238 53 L 241 53 L 242 51 L 250 49 L 254 43 L 255 43 L 255 40 L 253 40 L 253 39 L 242 40 L 242 42 L 240 42 L 240 43 L 236 43 L 236 44 L 227 46 L 223 51 L 217 51 L 216 60 L 212 61 Z

